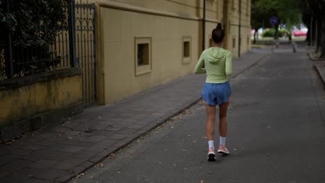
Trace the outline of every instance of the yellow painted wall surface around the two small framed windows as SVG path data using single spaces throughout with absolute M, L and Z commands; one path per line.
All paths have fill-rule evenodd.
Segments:
M 198 21 L 101 8 L 105 103 L 192 72 L 198 58 Z M 192 60 L 183 64 L 183 37 Z M 151 73 L 135 76 L 135 37 L 151 37 Z

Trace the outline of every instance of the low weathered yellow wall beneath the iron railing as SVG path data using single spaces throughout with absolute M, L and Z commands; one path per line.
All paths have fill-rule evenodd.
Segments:
M 82 102 L 81 75 L 0 90 L 0 126 Z

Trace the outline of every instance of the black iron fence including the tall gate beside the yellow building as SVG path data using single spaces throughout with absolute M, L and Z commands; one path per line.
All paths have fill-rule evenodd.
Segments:
M 94 28 L 94 4 L 87 1 L 1 0 L 0 81 L 80 67 L 83 98 L 91 103 L 96 98 Z

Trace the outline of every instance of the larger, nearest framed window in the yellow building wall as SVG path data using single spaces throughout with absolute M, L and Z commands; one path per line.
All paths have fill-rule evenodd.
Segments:
M 135 76 L 151 72 L 151 37 L 135 37 Z

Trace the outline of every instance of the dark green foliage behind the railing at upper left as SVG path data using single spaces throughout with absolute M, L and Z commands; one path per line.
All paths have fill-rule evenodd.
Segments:
M 8 33 L 11 33 L 12 49 L 19 49 L 22 54 L 28 53 L 23 55 L 25 62 L 49 59 L 53 55 L 51 45 L 55 42 L 56 34 L 67 28 L 68 2 L 69 0 L 1 0 L 1 42 L 7 40 Z M 26 68 L 21 69 L 26 71 Z

